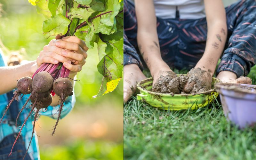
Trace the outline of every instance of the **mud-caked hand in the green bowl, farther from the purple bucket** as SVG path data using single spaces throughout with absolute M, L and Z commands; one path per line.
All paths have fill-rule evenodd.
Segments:
M 172 79 L 176 78 L 177 75 L 170 69 L 170 71 L 159 70 L 158 73 L 153 75 L 153 92 L 168 93 L 168 84 Z

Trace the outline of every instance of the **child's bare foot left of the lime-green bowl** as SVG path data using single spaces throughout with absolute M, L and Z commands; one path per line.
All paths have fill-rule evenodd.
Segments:
M 147 77 L 136 64 L 124 66 L 124 102 L 126 103 L 136 91 L 138 82 Z

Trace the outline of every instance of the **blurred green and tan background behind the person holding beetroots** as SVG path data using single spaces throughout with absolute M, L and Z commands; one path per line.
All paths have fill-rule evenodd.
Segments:
M 24 60 L 36 60 L 43 46 L 54 38 L 44 38 L 43 16 L 26 0 L 0 3 L 0 37 L 4 46 L 11 51 L 19 50 Z M 55 120 L 42 116 L 37 122 L 42 160 L 123 159 L 123 80 L 115 91 L 92 99 L 102 80 L 95 49 L 87 52 L 86 64 L 77 75 L 80 81 L 75 85 L 75 108 L 60 121 L 55 135 L 50 131 Z

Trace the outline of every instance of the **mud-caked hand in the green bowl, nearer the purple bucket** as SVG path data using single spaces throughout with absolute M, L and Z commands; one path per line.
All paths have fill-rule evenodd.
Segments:
M 201 68 L 192 68 L 188 74 L 188 82 L 185 84 L 182 92 L 197 93 L 211 89 L 212 75 Z

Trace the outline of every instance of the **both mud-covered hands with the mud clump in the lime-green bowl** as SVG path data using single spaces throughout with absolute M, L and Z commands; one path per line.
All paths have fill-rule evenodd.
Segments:
M 205 92 L 211 89 L 211 82 L 212 76 L 210 73 L 200 68 L 193 68 L 187 75 L 181 74 L 179 77 L 174 72 L 161 75 L 154 84 L 152 91 L 174 94 Z

